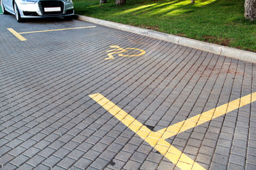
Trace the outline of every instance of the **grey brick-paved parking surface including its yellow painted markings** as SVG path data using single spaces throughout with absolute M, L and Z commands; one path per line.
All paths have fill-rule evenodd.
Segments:
M 255 64 L 82 21 L 0 21 L 0 169 L 256 169 Z

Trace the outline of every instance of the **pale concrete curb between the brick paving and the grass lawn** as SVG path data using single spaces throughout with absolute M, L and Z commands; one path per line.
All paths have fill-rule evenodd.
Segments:
M 136 33 L 139 35 L 145 35 L 151 38 L 156 38 L 159 40 L 165 40 L 168 42 L 173 42 L 178 45 L 184 45 L 186 47 L 192 47 L 198 50 L 203 50 L 207 52 L 212 52 L 217 55 L 223 55 L 226 57 L 232 57 L 238 60 L 244 60 L 246 62 L 256 63 L 256 52 L 249 52 L 245 50 L 238 50 L 232 47 L 225 47 L 223 45 L 215 45 L 208 42 L 202 42 L 199 40 L 193 40 L 190 38 L 183 38 L 176 35 L 160 33 L 154 30 L 147 30 L 144 28 L 137 28 L 134 26 L 124 25 L 122 23 L 114 23 L 112 21 L 100 20 L 97 18 L 91 18 L 88 16 L 76 15 L 76 18 L 80 21 L 87 21 L 90 23 L 96 23 L 101 26 L 107 26 L 110 28 L 116 28 L 119 30 L 125 30 L 130 33 Z

